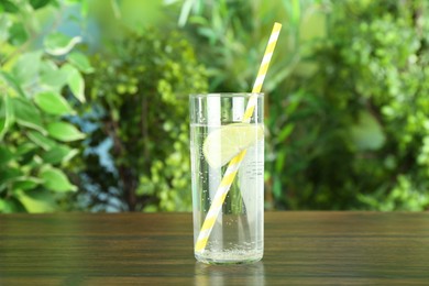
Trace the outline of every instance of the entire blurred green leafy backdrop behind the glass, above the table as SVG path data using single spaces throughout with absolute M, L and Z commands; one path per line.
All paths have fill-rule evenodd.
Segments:
M 0 0 L 0 212 L 189 211 L 188 95 L 264 82 L 267 210 L 429 209 L 429 1 Z

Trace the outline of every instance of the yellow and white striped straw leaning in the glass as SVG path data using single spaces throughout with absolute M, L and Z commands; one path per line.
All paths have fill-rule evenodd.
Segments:
M 270 61 L 273 56 L 273 52 L 274 52 L 274 48 L 276 46 L 280 29 L 282 29 L 282 24 L 274 23 L 274 28 L 273 28 L 273 31 L 271 33 L 268 44 L 266 46 L 265 54 L 264 54 L 264 57 L 262 59 L 260 70 L 257 73 L 255 84 L 253 85 L 253 89 L 252 89 L 253 95 L 249 99 L 242 122 L 245 122 L 245 123 L 250 122 L 250 119 L 253 114 L 253 111 L 254 111 L 256 102 L 257 102 L 257 95 L 256 94 L 260 92 L 262 89 L 262 84 L 264 82 L 264 78 L 265 78 L 266 72 L 268 69 Z M 201 230 L 198 234 L 197 243 L 195 244 L 196 252 L 202 252 L 206 249 L 206 244 L 207 244 L 207 241 L 209 240 L 211 230 L 213 229 L 216 219 L 217 219 L 217 217 L 222 208 L 224 199 L 227 198 L 227 195 L 228 195 L 228 191 L 232 185 L 232 182 L 234 180 L 235 175 L 239 172 L 241 162 L 243 161 L 245 153 L 246 153 L 246 150 L 241 151 L 229 163 L 228 168 L 223 175 L 223 178 L 220 182 L 218 190 L 216 191 L 215 198 L 212 199 L 209 212 L 207 213 L 205 222 L 202 223 Z

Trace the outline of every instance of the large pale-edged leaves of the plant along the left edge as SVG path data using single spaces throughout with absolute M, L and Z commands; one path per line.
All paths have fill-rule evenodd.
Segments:
M 65 95 L 70 88 L 84 101 L 75 78 L 81 78 L 77 68 L 89 70 L 85 56 L 64 59 L 80 37 L 57 32 L 45 19 L 59 16 L 63 6 L 0 2 L 0 212 L 54 211 L 76 191 L 64 169 L 78 151 L 63 142 L 84 134 L 66 122 L 75 111 Z

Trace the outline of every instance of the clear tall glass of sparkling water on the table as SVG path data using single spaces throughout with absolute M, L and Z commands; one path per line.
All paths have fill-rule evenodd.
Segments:
M 255 102 L 255 108 L 250 120 L 243 122 L 250 100 Z M 195 256 L 200 262 L 252 263 L 263 256 L 263 94 L 189 97 L 194 246 Z M 245 156 L 223 204 L 218 205 L 220 210 L 212 220 L 207 243 L 198 251 L 196 245 L 202 224 L 229 162 L 242 150 L 245 150 Z

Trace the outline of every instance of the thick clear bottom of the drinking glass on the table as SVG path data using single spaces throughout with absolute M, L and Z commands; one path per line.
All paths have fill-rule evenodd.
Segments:
M 231 253 L 217 252 L 217 253 L 196 253 L 195 257 L 197 261 L 206 264 L 216 265 L 235 265 L 235 264 L 251 264 L 262 260 L 263 252 L 245 254 L 245 255 L 231 255 Z

